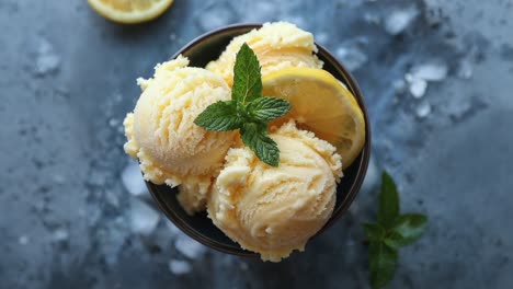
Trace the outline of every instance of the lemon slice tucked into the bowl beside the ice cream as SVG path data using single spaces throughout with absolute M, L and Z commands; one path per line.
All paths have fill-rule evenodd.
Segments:
M 293 118 L 298 127 L 337 147 L 343 169 L 353 163 L 365 143 L 365 120 L 353 94 L 341 82 L 317 68 L 286 68 L 262 81 L 263 95 L 293 104 L 290 112 L 271 126 Z

